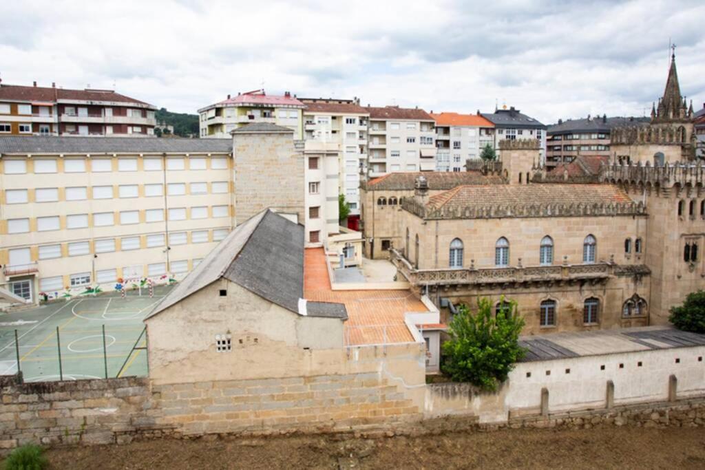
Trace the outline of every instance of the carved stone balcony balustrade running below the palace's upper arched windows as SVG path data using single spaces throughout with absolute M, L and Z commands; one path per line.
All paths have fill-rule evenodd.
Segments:
M 510 266 L 506 268 L 417 269 L 398 249 L 390 249 L 391 262 L 412 285 L 534 283 L 552 280 L 608 278 L 611 263 L 563 264 L 558 266 Z

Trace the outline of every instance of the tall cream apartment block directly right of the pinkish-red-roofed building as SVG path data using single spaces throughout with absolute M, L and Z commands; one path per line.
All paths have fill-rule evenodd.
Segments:
M 359 220 L 360 172 L 367 164 L 369 112 L 360 106 L 358 99 L 302 98 L 300 101 L 306 105 L 307 149 L 309 142 L 337 146 L 340 194 L 345 195 L 350 206 L 350 218 Z

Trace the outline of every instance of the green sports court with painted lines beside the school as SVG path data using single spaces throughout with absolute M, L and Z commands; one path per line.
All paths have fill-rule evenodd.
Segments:
M 146 376 L 142 319 L 168 289 L 155 287 L 154 297 L 145 289 L 125 298 L 111 292 L 0 315 L 0 375 L 17 372 L 19 352 L 25 382 Z

